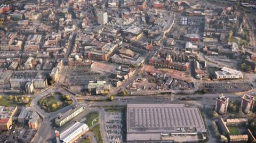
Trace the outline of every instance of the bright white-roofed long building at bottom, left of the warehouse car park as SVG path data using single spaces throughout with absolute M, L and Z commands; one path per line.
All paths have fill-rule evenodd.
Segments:
M 71 143 L 87 131 L 89 131 L 89 127 L 86 124 L 75 122 L 59 134 L 59 139 L 65 143 Z

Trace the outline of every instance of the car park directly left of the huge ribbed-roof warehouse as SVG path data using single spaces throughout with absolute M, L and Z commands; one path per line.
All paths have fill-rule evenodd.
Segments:
M 106 114 L 107 138 L 110 143 L 121 143 L 124 141 L 124 115 L 123 113 Z

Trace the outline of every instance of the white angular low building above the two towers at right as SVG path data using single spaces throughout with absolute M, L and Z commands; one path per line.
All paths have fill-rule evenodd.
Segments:
M 243 78 L 244 75 L 241 71 L 223 67 L 222 71 L 215 71 L 215 77 L 217 79 L 239 79 Z

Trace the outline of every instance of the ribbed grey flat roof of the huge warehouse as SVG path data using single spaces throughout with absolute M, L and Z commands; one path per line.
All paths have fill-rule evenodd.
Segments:
M 127 104 L 126 114 L 127 134 L 206 132 L 199 108 L 185 104 Z

